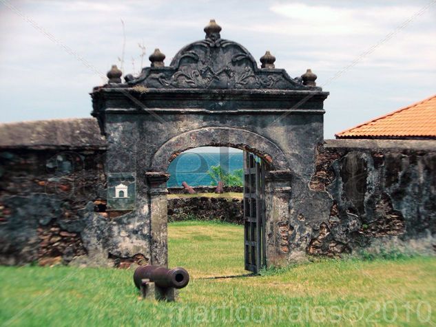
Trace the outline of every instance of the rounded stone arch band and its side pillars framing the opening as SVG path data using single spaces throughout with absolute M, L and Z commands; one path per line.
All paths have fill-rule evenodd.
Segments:
M 266 213 L 262 213 L 262 228 L 260 234 L 264 235 L 265 240 L 271 243 L 267 238 L 267 233 L 271 234 L 271 224 L 273 220 L 277 220 L 280 215 L 287 215 L 287 196 L 284 196 L 284 201 L 280 200 L 276 192 L 278 180 L 282 180 L 284 185 L 278 191 L 283 195 L 289 193 L 291 180 L 291 171 L 289 164 L 277 145 L 272 143 L 267 138 L 260 136 L 245 129 L 236 129 L 229 127 L 206 127 L 203 129 L 194 129 L 187 131 L 183 134 L 175 136 L 168 140 L 156 151 L 152 157 L 151 171 L 146 173 L 149 181 L 149 201 L 152 225 L 152 249 L 159 249 L 155 251 L 154 262 L 166 265 L 167 259 L 167 189 L 165 182 L 169 178 L 166 173 L 169 163 L 172 162 L 179 154 L 188 149 L 197 147 L 233 147 L 242 149 L 247 153 L 255 154 L 260 157 L 267 164 L 267 178 L 262 173 L 262 184 L 266 185 L 262 189 L 262 202 L 267 205 Z M 260 177 L 260 176 L 259 176 Z M 267 192 L 265 193 L 265 191 Z M 253 191 L 253 193 L 256 193 Z M 264 198 L 263 198 L 264 197 Z M 277 204 L 282 202 L 280 206 Z M 266 223 L 265 223 L 266 222 Z M 260 243 L 260 240 L 258 240 Z M 258 244 L 260 245 L 260 244 Z M 267 253 L 274 253 L 275 247 L 269 246 L 267 249 L 266 244 L 264 247 L 264 256 L 268 258 Z M 260 248 L 260 246 L 259 246 Z M 268 251 L 267 251 L 268 250 Z M 266 258 L 266 262 L 268 262 Z M 247 264 L 246 264 L 247 266 Z M 258 268 L 255 268 L 256 271 Z

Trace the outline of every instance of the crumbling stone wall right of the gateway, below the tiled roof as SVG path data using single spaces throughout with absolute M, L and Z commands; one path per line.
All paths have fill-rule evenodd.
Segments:
M 435 141 L 327 140 L 316 158 L 307 253 L 436 249 Z

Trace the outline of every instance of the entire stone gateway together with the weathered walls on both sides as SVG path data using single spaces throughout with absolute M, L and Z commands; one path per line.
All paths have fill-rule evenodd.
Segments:
M 436 140 L 324 140 L 316 75 L 292 78 L 269 51 L 259 67 L 220 32 L 212 20 L 169 66 L 156 49 L 124 82 L 113 66 L 94 118 L 0 125 L 1 264 L 167 266 L 167 170 L 205 146 L 245 151 L 251 271 L 436 249 Z

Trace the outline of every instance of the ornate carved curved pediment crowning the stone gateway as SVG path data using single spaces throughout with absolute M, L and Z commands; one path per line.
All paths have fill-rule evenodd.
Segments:
M 320 90 L 320 87 L 303 85 L 300 77 L 291 78 L 285 70 L 259 68 L 242 45 L 221 39 L 220 30 L 211 21 L 205 28 L 206 39 L 185 46 L 169 67 L 163 66 L 163 59 L 154 63 L 155 58 L 165 58 L 156 50 L 150 56 L 152 67 L 144 68 L 138 78 L 126 76 L 127 84 L 171 89 Z

